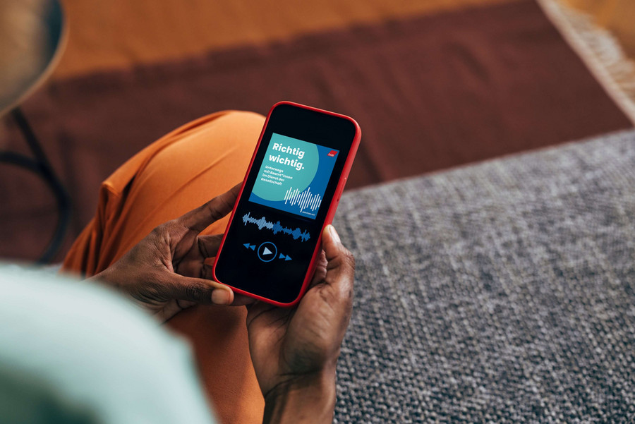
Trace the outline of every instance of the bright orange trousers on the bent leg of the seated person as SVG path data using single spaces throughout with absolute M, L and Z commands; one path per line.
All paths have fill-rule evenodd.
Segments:
M 242 181 L 264 122 L 250 112 L 218 112 L 172 131 L 129 159 L 102 183 L 97 213 L 73 243 L 63 270 L 97 274 L 155 226 Z M 228 219 L 203 234 L 222 233 Z M 245 320 L 243 307 L 200 305 L 167 324 L 191 342 L 222 423 L 262 422 L 265 402 L 251 364 Z

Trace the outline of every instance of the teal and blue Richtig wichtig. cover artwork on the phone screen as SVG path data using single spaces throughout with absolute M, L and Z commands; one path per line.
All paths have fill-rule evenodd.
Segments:
M 338 153 L 273 133 L 250 202 L 315 219 Z

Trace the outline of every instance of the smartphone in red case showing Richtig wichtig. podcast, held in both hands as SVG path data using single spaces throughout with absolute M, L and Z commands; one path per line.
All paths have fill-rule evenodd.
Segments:
M 260 301 L 298 303 L 360 139 L 349 116 L 274 104 L 216 255 L 214 279 Z

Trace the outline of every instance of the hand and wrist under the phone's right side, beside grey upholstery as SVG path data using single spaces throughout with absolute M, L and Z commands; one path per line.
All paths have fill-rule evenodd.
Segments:
M 322 234 L 322 248 L 312 286 L 296 308 L 248 306 L 249 349 L 265 396 L 265 422 L 332 422 L 355 261 L 331 225 Z

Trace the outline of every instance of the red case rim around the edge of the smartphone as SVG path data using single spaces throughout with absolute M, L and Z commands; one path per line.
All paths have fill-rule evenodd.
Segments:
M 341 171 L 341 176 L 339 177 L 339 181 L 337 182 L 337 188 L 335 188 L 335 193 L 333 195 L 333 201 L 331 202 L 331 205 L 329 206 L 329 210 L 327 212 L 325 221 L 324 221 L 324 225 L 322 225 L 322 229 L 320 230 L 320 236 L 318 236 L 317 238 L 317 243 L 315 245 L 315 250 L 313 251 L 313 256 L 311 257 L 311 262 L 309 264 L 309 269 L 308 272 L 306 274 L 306 277 L 302 283 L 302 287 L 300 289 L 300 293 L 298 294 L 298 297 L 289 303 L 281 303 L 281 302 L 277 302 L 277 301 L 273 301 L 272 299 L 269 298 L 264 298 L 262 296 L 258 296 L 257 294 L 253 294 L 253 293 L 249 293 L 248 291 L 244 291 L 241 289 L 236 289 L 236 287 L 234 286 L 230 286 L 229 284 L 225 284 L 222 281 L 219 281 L 219 279 L 216 277 L 216 264 L 218 262 L 218 258 L 219 255 L 223 249 L 224 243 L 225 243 L 225 238 L 227 236 L 227 231 L 229 230 L 229 226 L 231 226 L 231 222 L 234 221 L 234 215 L 236 214 L 236 207 L 238 207 L 238 201 L 241 200 L 241 197 L 243 195 L 243 190 L 245 188 L 245 183 L 247 181 L 247 176 L 249 175 L 250 171 L 251 171 L 251 166 L 253 166 L 253 161 L 255 160 L 255 156 L 256 156 L 256 152 L 258 152 L 258 149 L 260 148 L 260 143 L 262 142 L 262 135 L 265 134 L 265 128 L 267 128 L 267 124 L 269 123 L 269 119 L 271 117 L 272 111 L 278 107 L 281 104 L 289 104 L 291 106 L 294 107 L 301 107 L 303 109 L 309 109 L 312 111 L 316 111 L 316 112 L 320 112 L 322 114 L 327 114 L 327 115 L 332 115 L 332 116 L 338 116 L 339 118 L 343 118 L 343 119 L 347 119 L 348 121 L 351 121 L 351 123 L 353 123 L 353 125 L 355 126 L 355 137 L 353 138 L 353 143 L 351 144 L 351 150 L 349 150 L 349 156 L 346 157 L 346 162 L 344 162 L 344 169 L 342 169 Z M 349 178 L 349 172 L 351 171 L 351 166 L 353 166 L 353 159 L 355 159 L 355 155 L 357 153 L 357 148 L 359 147 L 359 142 L 361 140 L 361 128 L 359 128 L 358 123 L 352 119 L 350 116 L 346 116 L 346 115 L 342 115 L 342 114 L 336 114 L 335 112 L 331 112 L 331 111 L 325 111 L 322 109 L 317 109 L 315 107 L 310 107 L 310 106 L 306 106 L 304 104 L 299 104 L 299 103 L 294 103 L 294 102 L 277 102 L 276 104 L 274 104 L 272 106 L 272 108 L 269 111 L 269 114 L 267 114 L 267 120 L 265 121 L 265 126 L 262 127 L 262 131 L 260 131 L 260 137 L 258 138 L 258 144 L 255 147 L 255 150 L 253 151 L 253 156 L 251 157 L 251 161 L 249 162 L 249 167 L 247 169 L 247 172 L 245 174 L 245 178 L 243 178 L 243 185 L 241 186 L 241 190 L 238 193 L 238 198 L 236 199 L 236 203 L 234 203 L 234 209 L 231 211 L 231 216 L 229 217 L 229 223 L 226 226 L 225 229 L 225 233 L 223 234 L 223 239 L 221 241 L 220 247 L 218 249 L 218 253 L 216 255 L 216 260 L 214 260 L 214 267 L 212 269 L 212 273 L 214 274 L 214 280 L 218 281 L 220 284 L 225 284 L 226 286 L 231 287 L 232 290 L 234 290 L 235 293 L 241 293 L 244 294 L 246 296 L 252 297 L 252 298 L 256 298 L 259 301 L 263 301 L 263 302 L 267 302 L 267 303 L 271 303 L 272 305 L 277 305 L 277 306 L 282 306 L 283 308 L 289 308 L 291 306 L 296 305 L 300 299 L 302 298 L 302 296 L 304 296 L 304 293 L 306 293 L 306 290 L 308 288 L 308 285 L 310 283 L 310 280 L 313 278 L 313 272 L 315 272 L 315 262 L 317 260 L 317 255 L 320 254 L 320 250 L 322 250 L 322 232 L 325 229 L 325 226 L 327 226 L 328 224 L 330 224 L 333 221 L 333 217 L 335 216 L 335 210 L 337 210 L 337 205 L 339 203 L 339 198 L 341 198 L 341 192 L 344 191 L 344 186 L 346 185 L 346 179 Z

